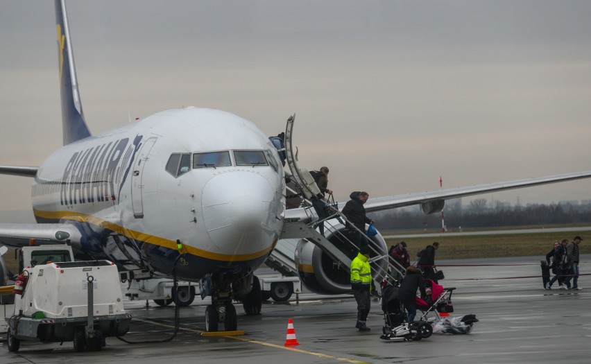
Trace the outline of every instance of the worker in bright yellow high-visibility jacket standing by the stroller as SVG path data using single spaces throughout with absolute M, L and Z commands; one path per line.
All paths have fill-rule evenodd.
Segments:
M 357 301 L 357 324 L 359 331 L 370 331 L 367 318 L 371 307 L 371 267 L 369 264 L 370 248 L 368 245 L 359 249 L 357 257 L 351 262 L 351 288 Z

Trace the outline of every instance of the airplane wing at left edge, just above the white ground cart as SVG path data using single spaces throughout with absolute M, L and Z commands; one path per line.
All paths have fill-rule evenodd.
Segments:
M 80 243 L 82 234 L 73 224 L 0 224 L 0 243 L 12 248 L 27 246 L 31 239 L 36 245 L 59 244 L 69 240 Z

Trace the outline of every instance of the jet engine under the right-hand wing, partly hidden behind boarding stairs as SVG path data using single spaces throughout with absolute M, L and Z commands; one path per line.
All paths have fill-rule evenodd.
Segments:
M 350 247 L 348 242 L 340 238 L 341 234 L 345 232 L 345 227 L 336 220 L 331 221 L 331 223 L 337 225 L 334 225 L 333 228 L 327 224 L 325 228 L 327 239 L 334 245 L 342 247 L 339 250 L 351 259 L 357 257 L 359 251 Z M 379 255 L 384 256 L 387 254 L 386 241 L 379 232 L 376 236 L 370 238 L 370 245 L 379 252 Z M 350 267 L 343 267 L 342 264 L 336 263 L 318 246 L 305 239 L 301 239 L 295 249 L 295 266 L 298 267 L 302 283 L 314 293 L 338 295 L 351 291 Z M 373 278 L 376 281 L 381 281 L 388 269 L 388 260 L 380 259 L 375 261 L 371 263 L 371 267 Z

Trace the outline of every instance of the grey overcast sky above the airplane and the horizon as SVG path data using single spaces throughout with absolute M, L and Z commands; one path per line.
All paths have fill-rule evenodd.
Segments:
M 338 200 L 591 169 L 591 1 L 69 1 L 85 117 L 103 132 L 194 105 L 268 135 L 296 114 Z M 62 142 L 53 1 L 0 2 L 0 164 Z M 0 210 L 32 180 L 0 176 Z M 591 199 L 591 180 L 483 196 Z

